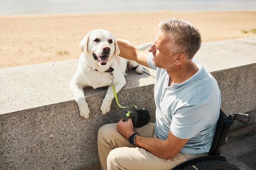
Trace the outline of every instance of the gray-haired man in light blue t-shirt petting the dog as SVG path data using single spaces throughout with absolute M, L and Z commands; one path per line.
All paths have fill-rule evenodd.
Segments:
M 98 133 L 102 169 L 170 170 L 208 155 L 221 97 L 216 80 L 192 60 L 201 46 L 198 29 L 173 18 L 159 23 L 150 53 L 122 41 L 118 45 L 121 57 L 157 70 L 156 120 L 134 129 L 131 119 L 102 126 Z

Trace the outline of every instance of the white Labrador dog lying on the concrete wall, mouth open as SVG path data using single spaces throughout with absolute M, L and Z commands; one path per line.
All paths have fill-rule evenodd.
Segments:
M 148 49 L 148 45 L 141 45 L 142 50 Z M 126 60 L 119 57 L 120 50 L 117 40 L 112 33 L 96 29 L 90 31 L 79 44 L 83 53 L 79 57 L 78 70 L 70 82 L 70 90 L 74 99 L 79 106 L 81 117 L 88 119 L 90 110 L 85 101 L 83 87 L 91 86 L 99 88 L 108 86 L 108 91 L 101 104 L 103 115 L 110 111 L 112 100 L 114 99 L 113 89 L 111 86 L 110 72 L 113 71 L 115 77 L 115 89 L 118 93 L 126 84 L 124 78 L 127 64 L 131 67 L 137 67 L 136 73 L 143 73 L 143 67 L 135 61 Z

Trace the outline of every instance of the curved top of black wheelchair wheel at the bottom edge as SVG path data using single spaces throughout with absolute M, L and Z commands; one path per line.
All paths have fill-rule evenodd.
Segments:
M 203 161 L 194 163 L 192 166 L 186 167 L 183 170 L 240 170 L 237 166 L 226 161 Z

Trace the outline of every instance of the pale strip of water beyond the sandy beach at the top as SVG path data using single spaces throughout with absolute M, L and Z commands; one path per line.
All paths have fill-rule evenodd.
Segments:
M 256 0 L 0 0 L 0 15 L 256 10 Z

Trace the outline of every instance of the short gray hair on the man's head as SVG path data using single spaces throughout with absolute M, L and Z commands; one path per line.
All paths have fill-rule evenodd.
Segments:
M 201 35 L 190 22 L 178 18 L 163 20 L 159 23 L 162 33 L 170 36 L 166 44 L 171 54 L 184 53 L 191 60 L 201 46 Z

